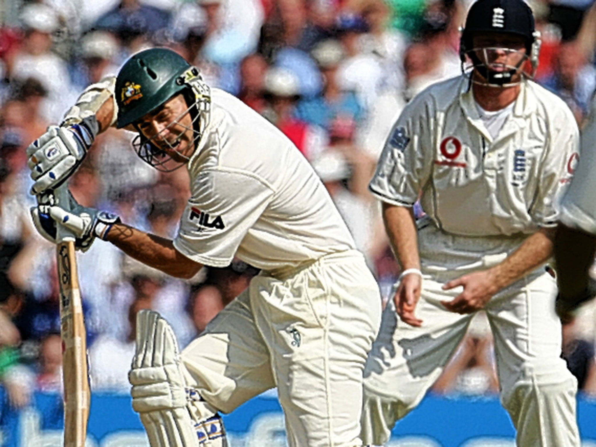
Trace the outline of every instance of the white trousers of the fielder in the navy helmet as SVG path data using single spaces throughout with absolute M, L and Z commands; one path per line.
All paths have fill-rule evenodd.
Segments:
M 464 238 L 425 228 L 419 232 L 423 286 L 415 314 L 420 328 L 399 320 L 390 299 L 367 360 L 362 440 L 382 445 L 396 420 L 420 403 L 461 342 L 474 314 L 446 311 L 462 288 L 447 281 L 489 268 L 521 240 Z M 519 447 L 579 447 L 577 381 L 561 355 L 561 324 L 554 313 L 556 282 L 536 269 L 499 291 L 485 306 L 495 342 L 501 403 L 517 430 Z M 440 415 L 437 415 L 440 417 Z

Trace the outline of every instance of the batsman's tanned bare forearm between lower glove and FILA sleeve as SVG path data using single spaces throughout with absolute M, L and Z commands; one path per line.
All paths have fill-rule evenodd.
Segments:
M 176 250 L 172 241 L 126 224 L 114 224 L 107 241 L 128 256 L 177 278 L 192 278 L 202 267 Z

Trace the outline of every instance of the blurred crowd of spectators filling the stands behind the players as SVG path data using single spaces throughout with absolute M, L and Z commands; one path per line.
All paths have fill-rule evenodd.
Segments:
M 312 163 L 381 287 L 399 268 L 368 181 L 390 126 L 426 86 L 461 73 L 459 27 L 470 0 L 0 1 L 0 382 L 11 404 L 59 390 L 60 318 L 54 246 L 36 234 L 25 148 L 60 121 L 89 83 L 141 49 L 168 46 L 211 86 L 274 123 Z M 578 123 L 596 88 L 594 0 L 532 0 L 542 50 L 536 80 Z M 189 196 L 184 170 L 163 174 L 108 131 L 70 181 L 84 206 L 172 238 Z M 418 215 L 423 213 L 417 209 Z M 128 391 L 135 313 L 154 309 L 181 346 L 257 274 L 240 260 L 167 277 L 108 243 L 78 254 L 95 390 Z M 564 328 L 563 356 L 596 393 L 591 306 Z M 474 320 L 434 392 L 498 390 L 488 324 Z

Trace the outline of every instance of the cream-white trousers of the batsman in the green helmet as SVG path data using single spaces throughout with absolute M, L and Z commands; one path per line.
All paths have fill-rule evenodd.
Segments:
M 187 385 L 207 403 L 198 413 L 231 412 L 277 386 L 291 447 L 362 445 L 362 374 L 380 318 L 355 250 L 257 275 L 182 352 Z

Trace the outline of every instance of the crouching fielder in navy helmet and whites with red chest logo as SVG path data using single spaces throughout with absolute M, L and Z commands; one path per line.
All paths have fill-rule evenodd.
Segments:
M 461 37 L 464 74 L 415 97 L 387 139 L 370 189 L 403 271 L 365 367 L 365 443 L 387 442 L 484 309 L 517 445 L 579 447 L 577 383 L 560 358 L 545 268 L 578 128 L 530 80 L 538 49 L 523 0 L 477 1 Z M 427 218 L 416 223 L 419 194 Z

